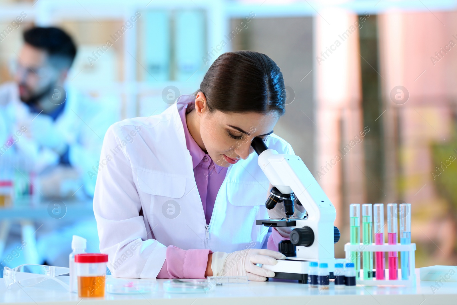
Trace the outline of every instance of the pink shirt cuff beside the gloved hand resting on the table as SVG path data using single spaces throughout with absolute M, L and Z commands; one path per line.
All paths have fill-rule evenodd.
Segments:
M 157 278 L 205 278 L 209 249 L 182 250 L 168 246 L 165 262 Z

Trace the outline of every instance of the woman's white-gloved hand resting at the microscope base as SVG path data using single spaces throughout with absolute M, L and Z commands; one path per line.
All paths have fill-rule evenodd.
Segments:
M 232 253 L 214 252 L 211 261 L 213 276 L 248 276 L 250 281 L 263 282 L 275 273 L 256 264 L 276 265 L 277 259 L 285 259 L 282 253 L 267 249 L 246 249 Z

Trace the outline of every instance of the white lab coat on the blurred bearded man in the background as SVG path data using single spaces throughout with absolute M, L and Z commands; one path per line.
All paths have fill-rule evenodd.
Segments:
M 52 123 L 53 128 L 56 128 L 63 135 L 62 140 L 69 144 L 69 162 L 80 171 L 83 189 L 92 196 L 96 177 L 89 171 L 93 171 L 93 167 L 96 168 L 98 165 L 103 136 L 107 128 L 118 118 L 117 107 L 94 101 L 68 85 L 65 86 L 65 91 L 67 98 L 64 111 Z M 5 144 L 8 136 L 21 129 L 22 122 L 30 122 L 36 116 L 36 113 L 31 113 L 27 105 L 20 101 L 15 83 L 0 86 L 0 146 Z M 43 118 L 37 118 L 35 121 L 38 119 Z M 24 134 L 13 146 L 14 148 L 11 146 L 8 149 L 8 153 L 17 151 L 27 156 L 38 172 L 47 166 L 58 164 L 57 153 L 40 147 Z

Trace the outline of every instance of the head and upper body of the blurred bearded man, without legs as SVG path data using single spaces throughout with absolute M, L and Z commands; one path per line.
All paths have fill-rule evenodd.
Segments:
M 92 196 L 95 179 L 87 171 L 97 164 L 101 139 L 112 122 L 97 103 L 66 83 L 76 55 L 68 34 L 56 27 L 33 27 L 24 32 L 24 42 L 15 82 L 0 86 L 9 132 L 0 155 L 21 155 L 30 163 L 42 175 L 37 186 L 44 197 L 71 196 L 81 185 Z

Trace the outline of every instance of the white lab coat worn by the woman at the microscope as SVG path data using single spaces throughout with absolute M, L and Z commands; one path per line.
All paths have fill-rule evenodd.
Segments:
M 94 214 L 100 251 L 108 254 L 116 277 L 156 278 L 170 245 L 233 252 L 266 242 L 268 228 L 255 219 L 268 218 L 269 181 L 255 152 L 228 168 L 207 226 L 178 113 L 182 107 L 123 120 L 106 132 Z M 282 138 L 268 138 L 270 148 L 294 154 Z

